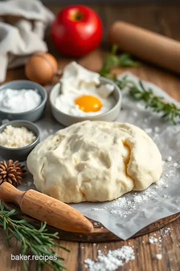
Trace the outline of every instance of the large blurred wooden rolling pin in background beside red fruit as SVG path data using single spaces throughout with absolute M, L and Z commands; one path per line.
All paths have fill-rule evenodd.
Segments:
M 123 52 L 180 73 L 180 43 L 175 40 L 125 22 L 113 23 L 109 38 Z

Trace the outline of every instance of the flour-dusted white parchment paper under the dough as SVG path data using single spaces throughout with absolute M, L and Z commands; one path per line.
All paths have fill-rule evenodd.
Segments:
M 124 74 L 119 77 L 122 76 Z M 128 78 L 138 83 L 138 78 L 134 75 L 128 74 Z M 144 82 L 144 86 L 151 87 L 156 95 L 163 96 L 165 100 L 180 107 L 180 103 L 157 86 L 149 82 Z M 122 91 L 122 110 L 115 121 L 135 124 L 154 140 L 163 159 L 160 181 L 145 191 L 127 193 L 111 202 L 85 202 L 71 206 L 125 240 L 146 225 L 180 211 L 180 124 L 163 122 L 158 114 L 145 109 L 143 102 L 131 100 L 127 90 Z M 36 124 L 41 131 L 41 140 L 63 128 L 52 118 L 49 105 L 45 116 Z M 168 156 L 172 157 L 170 162 L 166 162 Z M 32 176 L 27 174 L 19 189 L 35 189 L 32 182 Z

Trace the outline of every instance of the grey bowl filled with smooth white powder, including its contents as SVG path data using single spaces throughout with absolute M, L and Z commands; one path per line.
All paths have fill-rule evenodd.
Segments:
M 0 86 L 0 120 L 36 121 L 45 109 L 46 90 L 28 80 L 15 80 Z

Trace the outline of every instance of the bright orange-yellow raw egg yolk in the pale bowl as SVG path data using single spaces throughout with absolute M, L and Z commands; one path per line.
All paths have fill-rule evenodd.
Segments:
M 83 112 L 96 112 L 102 107 L 101 101 L 91 95 L 83 95 L 74 100 Z

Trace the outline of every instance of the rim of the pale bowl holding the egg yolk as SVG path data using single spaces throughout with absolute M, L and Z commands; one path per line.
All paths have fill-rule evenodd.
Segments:
M 106 111 L 106 112 L 103 112 L 103 113 L 101 113 L 101 114 L 93 115 L 93 116 L 70 115 L 70 114 L 66 114 L 66 113 L 60 111 L 59 109 L 57 109 L 57 108 L 55 107 L 55 105 L 53 104 L 53 102 L 52 102 L 52 100 L 51 100 L 51 99 L 52 99 L 52 98 L 51 98 L 52 91 L 53 91 L 53 89 L 54 89 L 58 84 L 59 84 L 59 86 L 60 86 L 60 81 L 57 82 L 57 83 L 51 88 L 51 90 L 50 90 L 50 93 L 49 93 L 49 103 L 50 103 L 50 106 L 53 107 L 53 109 L 55 109 L 57 112 L 61 113 L 62 115 L 67 116 L 67 117 L 71 117 L 71 118 L 77 118 L 77 117 L 78 117 L 79 119 L 89 119 L 89 120 L 90 120 L 90 119 L 93 119 L 94 117 L 96 118 L 96 117 L 103 117 L 103 116 L 108 115 L 109 113 L 111 113 L 114 109 L 116 109 L 116 108 L 121 104 L 121 102 L 122 102 L 122 93 L 121 93 L 120 88 L 118 87 L 118 85 L 117 85 L 116 83 L 114 83 L 111 79 L 108 79 L 108 78 L 102 77 L 102 76 L 100 76 L 99 79 L 100 79 L 100 80 L 106 81 L 106 84 L 114 85 L 114 88 L 116 88 L 116 90 L 117 90 L 117 92 L 118 92 L 118 99 L 116 100 L 116 103 L 114 104 L 114 106 L 113 106 L 110 110 L 108 110 L 108 111 Z M 101 83 L 100 83 L 100 84 L 101 84 Z

